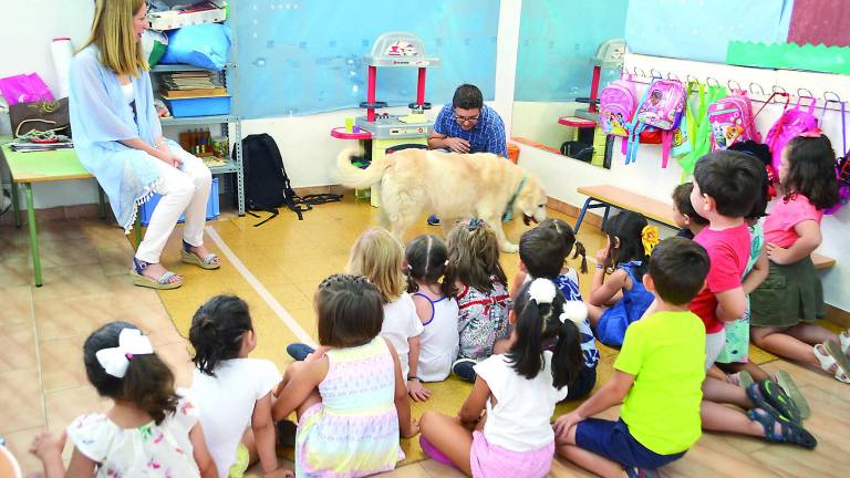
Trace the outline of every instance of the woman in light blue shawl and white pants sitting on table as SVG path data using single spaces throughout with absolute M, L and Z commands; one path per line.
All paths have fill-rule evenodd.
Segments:
M 147 61 L 139 40 L 147 29 L 145 0 L 97 0 L 92 33 L 71 64 L 71 129 L 80 160 L 110 197 L 118 225 L 128 233 L 138 207 L 164 197 L 151 216 L 133 258 L 136 285 L 175 289 L 183 277 L 167 271 L 159 256 L 180 214 L 184 262 L 218 269 L 204 247 L 211 175 L 197 157 L 163 137 Z

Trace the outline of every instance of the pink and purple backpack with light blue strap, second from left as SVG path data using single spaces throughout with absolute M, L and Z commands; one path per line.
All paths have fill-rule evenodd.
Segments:
M 678 126 L 682 118 L 685 101 L 685 87 L 682 82 L 661 79 L 652 82 L 626 128 L 629 141 L 625 164 L 634 163 L 636 159 L 641 134 L 654 128 L 661 131 L 661 167 L 667 167 L 670 150 L 673 147 L 673 129 Z

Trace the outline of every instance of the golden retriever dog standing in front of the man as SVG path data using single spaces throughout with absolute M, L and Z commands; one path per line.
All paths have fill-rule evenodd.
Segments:
M 440 218 L 444 232 L 459 219 L 484 219 L 500 249 L 516 252 L 518 246 L 501 229 L 502 218 L 522 215 L 526 225 L 546 219 L 547 196 L 540 181 L 494 154 L 411 148 L 373 160 L 366 169 L 351 164 L 356 154 L 346 149 L 336 158 L 340 183 L 355 189 L 379 185 L 382 226 L 402 242 L 407 229 L 428 212 Z

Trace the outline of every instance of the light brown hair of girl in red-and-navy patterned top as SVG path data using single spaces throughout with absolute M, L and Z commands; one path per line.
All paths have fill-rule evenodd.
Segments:
M 471 219 L 458 224 L 446 238 L 448 268 L 446 279 L 470 285 L 481 292 L 494 290 L 494 282 L 508 283 L 499 263 L 499 241 L 485 221 Z

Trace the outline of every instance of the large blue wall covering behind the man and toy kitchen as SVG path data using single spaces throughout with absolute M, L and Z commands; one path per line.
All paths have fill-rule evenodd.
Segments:
M 366 100 L 363 58 L 391 31 L 411 32 L 440 64 L 428 69 L 425 100 L 452 100 L 462 83 L 495 94 L 499 2 L 388 0 L 239 0 L 232 2 L 238 42 L 239 114 L 248 118 L 357 107 Z M 416 100 L 416 69 L 379 69 L 377 100 Z

